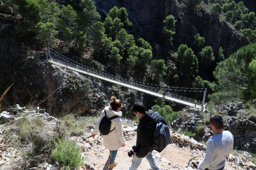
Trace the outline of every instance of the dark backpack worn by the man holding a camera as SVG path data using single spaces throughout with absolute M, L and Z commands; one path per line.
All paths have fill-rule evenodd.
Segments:
M 140 132 L 141 126 L 143 126 L 143 127 L 145 126 L 145 127 L 154 129 L 152 148 L 154 150 L 156 150 L 157 152 L 162 152 L 162 150 L 164 150 L 164 148 L 168 145 L 168 143 L 170 141 L 169 127 L 163 123 L 157 123 L 156 126 L 149 126 L 149 125 L 141 124 L 138 127 L 138 132 Z

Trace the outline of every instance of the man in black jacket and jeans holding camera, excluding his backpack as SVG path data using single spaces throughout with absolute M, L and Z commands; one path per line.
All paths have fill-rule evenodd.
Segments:
M 132 112 L 140 119 L 141 128 L 137 131 L 136 148 L 137 152 L 133 150 L 132 165 L 127 170 L 136 170 L 144 157 L 146 157 L 152 170 L 160 170 L 160 166 L 156 163 L 156 159 L 152 153 L 152 142 L 154 129 L 148 126 L 156 126 L 157 123 L 167 125 L 166 120 L 158 112 L 146 110 L 142 102 L 137 102 L 132 107 Z M 142 169 L 147 169 L 143 167 Z

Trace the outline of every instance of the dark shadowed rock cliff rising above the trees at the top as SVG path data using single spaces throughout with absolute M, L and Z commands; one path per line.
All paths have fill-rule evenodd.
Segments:
M 231 24 L 210 15 L 205 8 L 199 11 L 188 11 L 184 1 L 95 0 L 94 3 L 103 16 L 103 20 L 113 6 L 125 7 L 133 22 L 131 33 L 135 35 L 135 38 L 142 37 L 149 41 L 154 49 L 153 56 L 155 57 L 164 57 L 161 56 L 161 52 L 166 50 L 161 46 L 162 22 L 168 15 L 173 15 L 177 20 L 176 34 L 173 40 L 174 50 L 180 44 L 188 44 L 191 47 L 197 33 L 205 37 L 205 45 L 212 46 L 214 53 L 221 46 L 226 57 L 240 47 L 249 44 L 248 40 L 237 32 Z

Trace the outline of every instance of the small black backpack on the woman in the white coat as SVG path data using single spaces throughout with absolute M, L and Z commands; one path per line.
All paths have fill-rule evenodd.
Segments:
M 105 110 L 104 110 L 105 111 Z M 101 119 L 100 121 L 100 125 L 99 125 L 99 131 L 102 135 L 108 135 L 110 132 L 112 132 L 112 130 L 110 130 L 110 126 L 111 126 L 111 120 L 115 119 L 119 116 L 112 116 L 112 117 L 108 117 L 105 111 L 105 116 Z

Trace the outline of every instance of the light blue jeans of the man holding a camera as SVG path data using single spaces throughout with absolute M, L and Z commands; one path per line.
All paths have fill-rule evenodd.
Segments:
M 160 170 L 160 166 L 157 165 L 155 157 L 152 155 L 152 152 L 149 152 L 146 156 L 148 163 L 152 170 Z M 132 165 L 127 170 L 136 170 L 141 164 L 142 158 L 133 156 Z

